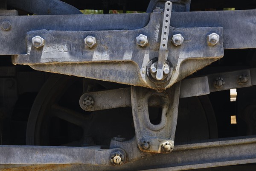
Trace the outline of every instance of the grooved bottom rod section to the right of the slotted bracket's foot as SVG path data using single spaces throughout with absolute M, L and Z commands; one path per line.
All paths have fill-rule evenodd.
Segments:
M 179 171 L 224 165 L 256 163 L 256 138 L 228 138 L 216 142 L 175 146 L 175 150 L 165 160 L 149 164 L 148 169 Z M 158 156 L 149 157 L 156 161 Z M 159 161 L 159 160 L 158 160 Z M 168 162 L 166 162 L 168 161 Z M 155 165 L 155 166 L 154 166 Z M 159 167 L 160 166 L 160 167 Z M 160 169 L 161 168 L 161 169 Z

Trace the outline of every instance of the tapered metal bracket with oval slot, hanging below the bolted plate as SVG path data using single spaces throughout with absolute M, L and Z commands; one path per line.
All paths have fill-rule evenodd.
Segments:
M 163 92 L 143 87 L 131 87 L 131 107 L 137 144 L 141 151 L 169 153 L 174 146 L 177 124 L 180 82 Z M 148 113 L 150 99 L 161 101 L 160 123 L 152 124 Z

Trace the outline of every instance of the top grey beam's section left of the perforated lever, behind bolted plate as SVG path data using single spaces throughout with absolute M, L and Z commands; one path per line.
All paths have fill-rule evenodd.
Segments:
M 149 17 L 148 13 L 139 15 L 1 16 L 0 23 L 9 21 L 12 28 L 8 31 L 0 31 L 0 55 L 27 54 L 26 33 L 28 31 L 41 29 L 59 31 L 133 30 L 145 27 Z

